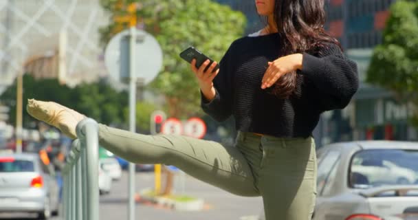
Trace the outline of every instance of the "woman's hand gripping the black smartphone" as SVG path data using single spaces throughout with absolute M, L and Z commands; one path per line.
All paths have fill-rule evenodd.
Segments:
M 217 66 L 217 62 L 213 62 L 208 69 L 206 67 L 209 65 L 210 61 L 206 60 L 202 63 L 202 65 L 197 69 L 196 67 L 196 59 L 192 60 L 191 68 L 192 72 L 195 73 L 195 76 L 197 77 L 197 81 L 199 83 L 199 87 L 201 92 L 203 93 L 203 96 L 207 100 L 212 100 L 214 96 L 216 95 L 216 91 L 213 87 L 213 79 L 217 74 L 219 73 L 219 69 L 217 69 L 215 72 L 213 69 Z M 206 72 L 205 72 L 206 69 Z

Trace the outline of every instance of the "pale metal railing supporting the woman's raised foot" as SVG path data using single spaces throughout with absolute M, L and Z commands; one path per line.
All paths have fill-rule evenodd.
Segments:
M 87 118 L 76 132 L 63 169 L 63 215 L 65 220 L 98 220 L 98 124 Z

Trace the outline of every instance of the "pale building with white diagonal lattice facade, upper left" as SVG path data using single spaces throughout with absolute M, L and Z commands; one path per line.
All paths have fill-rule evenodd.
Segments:
M 20 72 L 67 85 L 106 75 L 97 30 L 108 22 L 99 0 L 0 1 L 0 90 Z

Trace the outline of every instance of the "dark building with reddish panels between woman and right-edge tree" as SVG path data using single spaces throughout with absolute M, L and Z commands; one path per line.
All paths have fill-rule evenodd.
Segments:
M 399 102 L 391 92 L 365 83 L 373 47 L 382 43 L 389 9 L 395 1 L 327 1 L 325 28 L 358 64 L 360 89 L 347 109 L 322 118 L 317 129 L 321 144 L 342 140 L 417 140 L 415 129 L 408 124 L 414 111 L 412 104 Z

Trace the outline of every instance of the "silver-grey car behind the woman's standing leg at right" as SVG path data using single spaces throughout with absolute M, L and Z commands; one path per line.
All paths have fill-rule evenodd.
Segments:
M 315 220 L 418 219 L 418 143 L 320 148 Z

